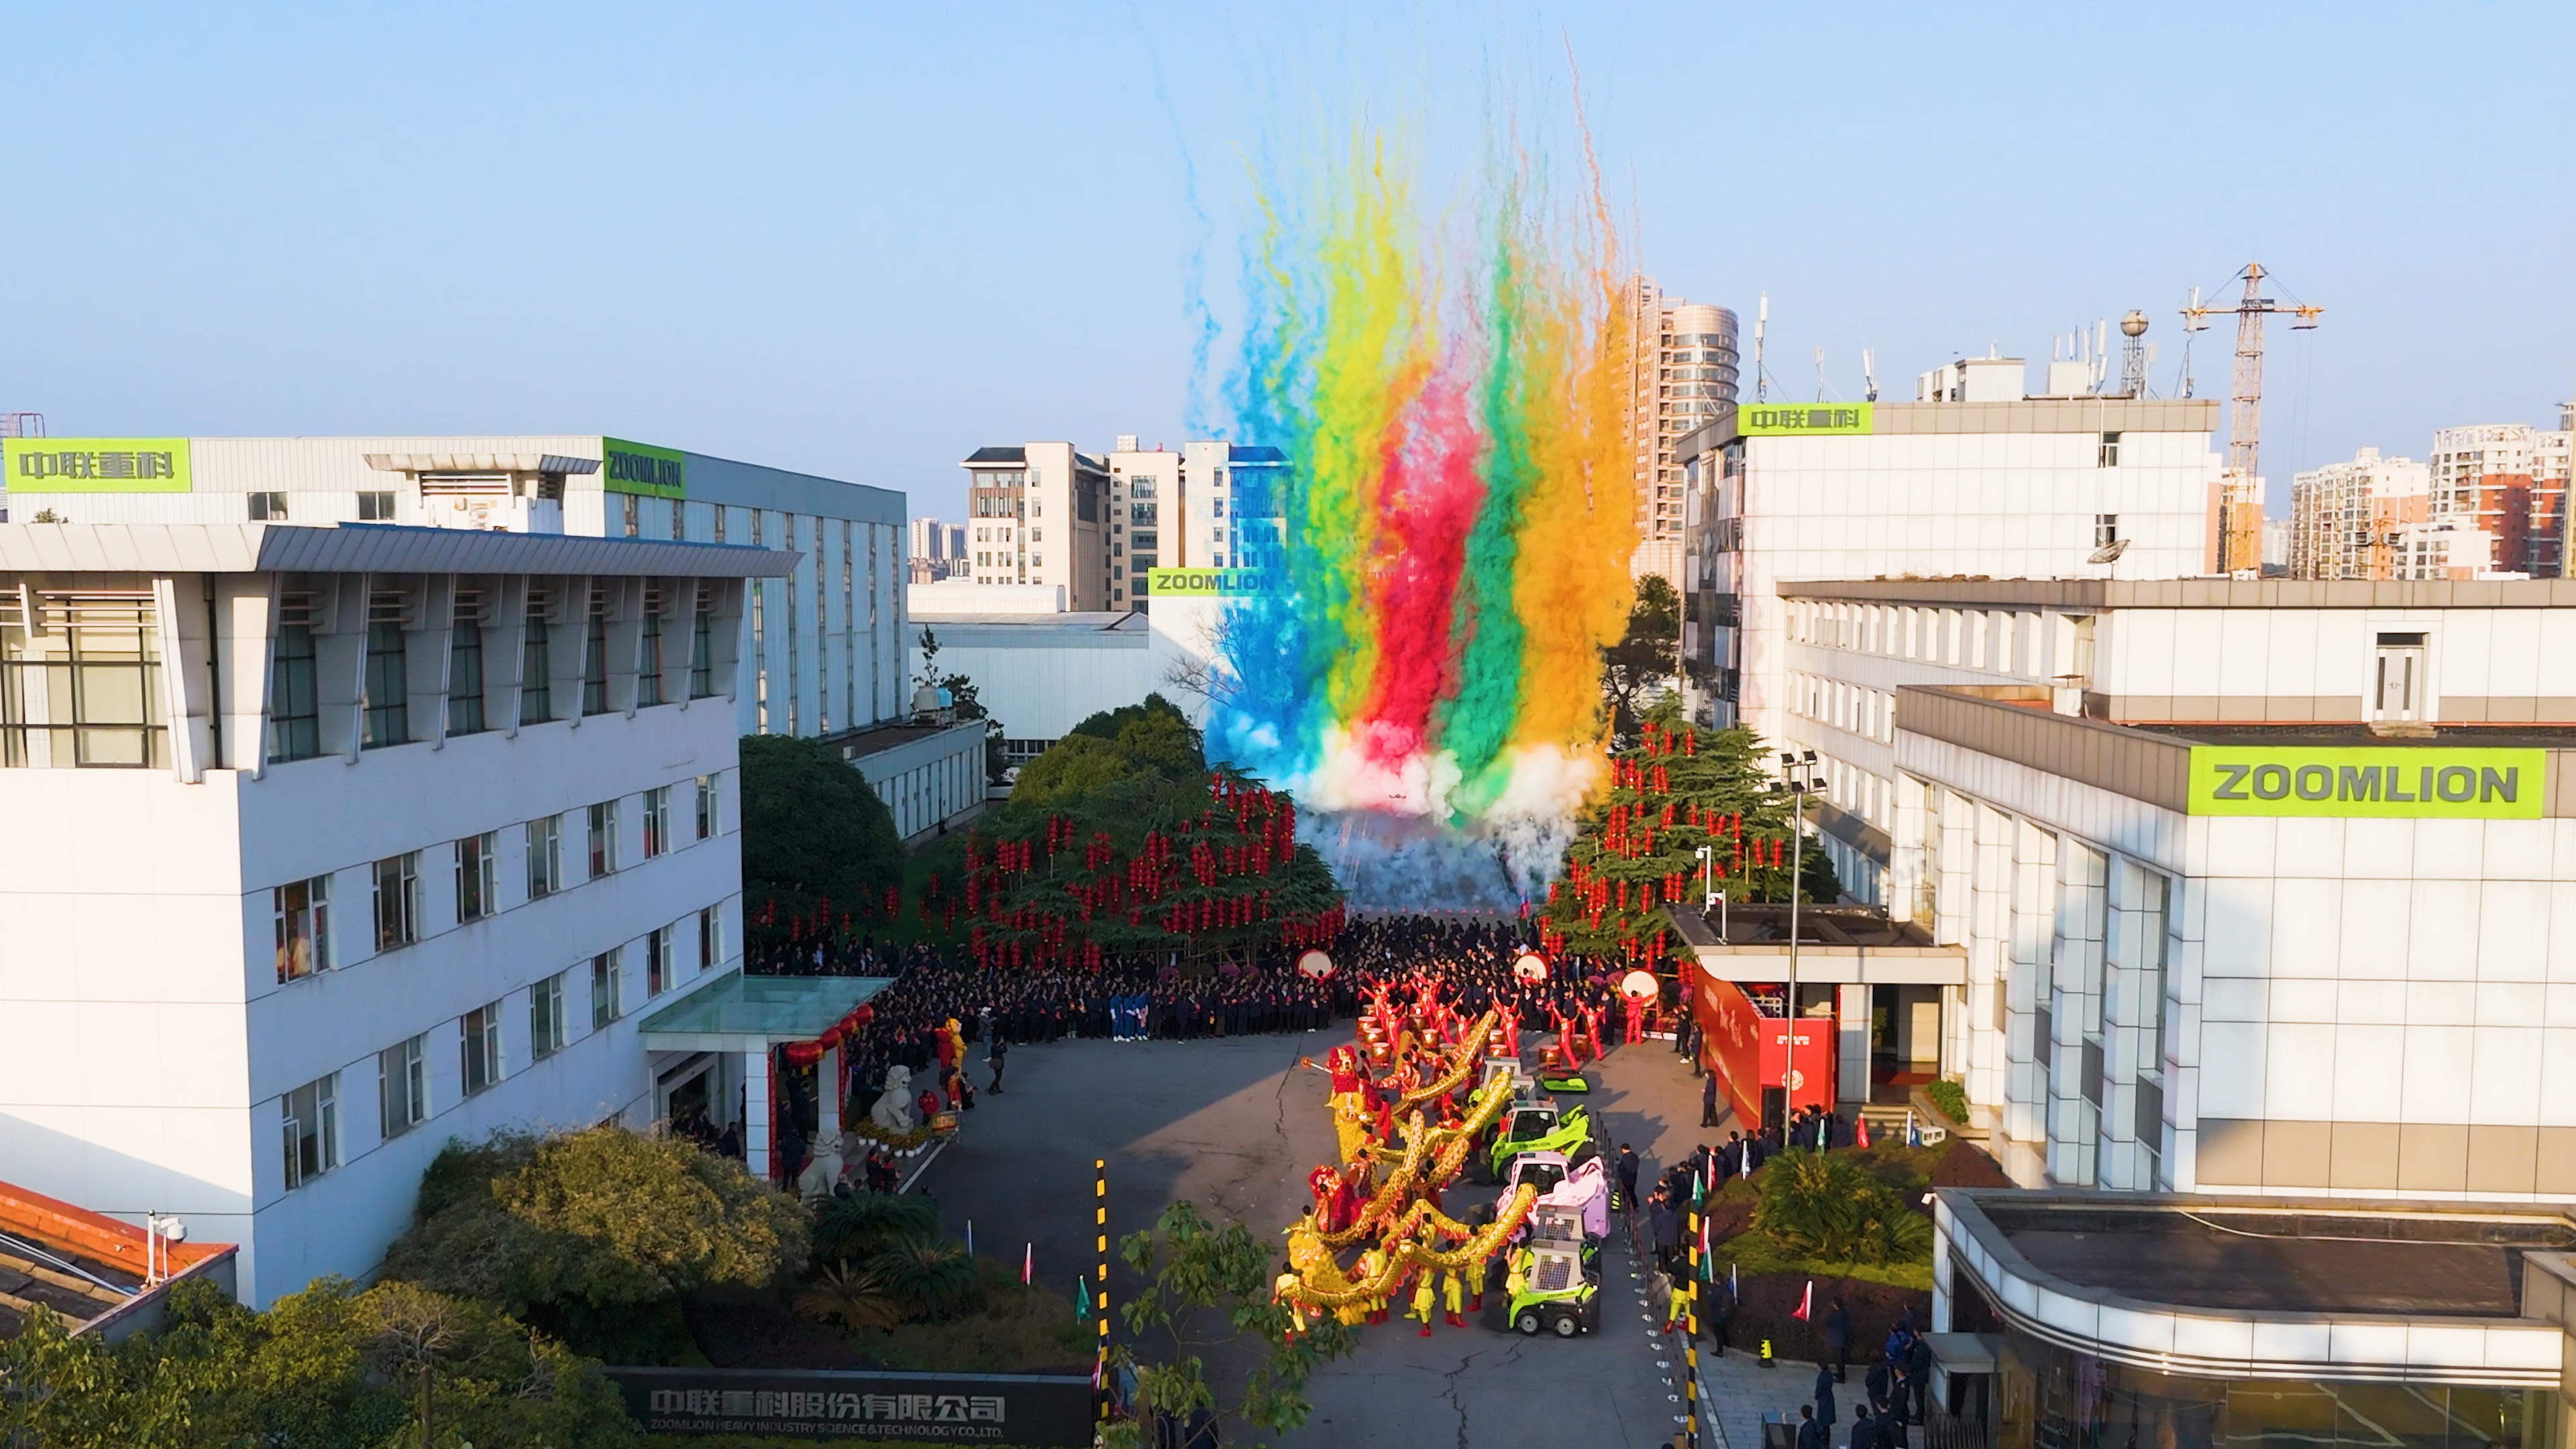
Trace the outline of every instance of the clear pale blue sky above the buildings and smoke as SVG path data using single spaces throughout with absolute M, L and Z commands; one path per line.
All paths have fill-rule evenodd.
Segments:
M 2249 258 L 2264 472 L 2576 389 L 2576 5 L 23 8 L 0 407 L 52 431 L 605 431 L 956 513 L 989 441 L 1177 443 L 1247 155 L 1510 111 L 1628 242 L 1772 299 L 1790 397 Z M 1195 199 L 1193 209 L 1193 178 Z M 2231 335 L 2195 348 L 2226 394 Z M 2032 366 L 2038 379 L 2038 366 Z M 2275 503 L 2277 508 L 2280 503 Z

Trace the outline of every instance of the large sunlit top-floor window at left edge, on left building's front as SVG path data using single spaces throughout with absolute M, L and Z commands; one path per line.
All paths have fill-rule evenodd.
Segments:
M 0 761 L 13 768 L 162 766 L 167 727 L 152 601 L 0 606 Z M 31 629 L 33 627 L 33 629 Z

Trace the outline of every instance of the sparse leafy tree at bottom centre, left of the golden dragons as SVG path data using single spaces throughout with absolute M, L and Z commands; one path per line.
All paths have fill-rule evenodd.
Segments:
M 1136 1397 L 1144 1415 L 1188 1421 L 1208 1408 L 1255 1431 L 1285 1434 L 1306 1423 L 1314 1405 L 1306 1379 L 1358 1348 L 1360 1336 L 1334 1318 L 1309 1320 L 1293 1338 L 1296 1318 L 1270 1299 L 1278 1258 L 1242 1220 L 1208 1222 L 1195 1201 L 1175 1201 L 1144 1232 L 1118 1240 L 1118 1256 L 1146 1279 L 1126 1307 L 1126 1328 L 1162 1361 L 1136 1354 Z M 1208 1356 L 1244 1361 L 1234 1385 L 1208 1382 Z M 1144 1444 L 1141 1418 L 1108 1428 L 1110 1449 Z

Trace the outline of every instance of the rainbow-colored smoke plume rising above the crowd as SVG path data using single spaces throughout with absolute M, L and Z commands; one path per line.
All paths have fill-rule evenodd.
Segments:
M 1216 627 L 1208 753 L 1528 890 L 1600 779 L 1600 650 L 1633 598 L 1631 307 L 1597 186 L 1556 206 L 1497 160 L 1432 219 L 1370 137 L 1257 214 L 1226 436 L 1288 467 L 1236 498 L 1270 588 Z

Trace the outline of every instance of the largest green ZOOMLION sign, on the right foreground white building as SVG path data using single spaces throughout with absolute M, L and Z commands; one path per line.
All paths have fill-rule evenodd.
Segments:
M 2192 745 L 2192 815 L 2540 820 L 2548 750 Z

